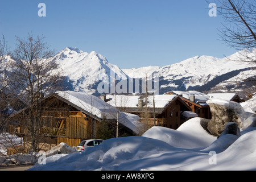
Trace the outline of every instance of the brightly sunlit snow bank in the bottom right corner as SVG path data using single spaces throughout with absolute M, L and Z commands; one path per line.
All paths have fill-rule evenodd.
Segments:
M 233 136 L 227 136 L 233 137 Z M 234 140 L 235 138 L 233 138 Z M 226 142 L 232 143 L 226 150 L 216 155 L 217 164 L 209 165 L 205 163 L 207 157 L 200 156 L 196 164 L 188 164 L 186 168 L 194 170 L 220 170 L 220 171 L 245 171 L 256 170 L 256 130 L 241 135 L 232 143 L 232 138 L 228 141 L 222 140 L 222 145 Z M 200 166 L 198 165 L 200 164 Z

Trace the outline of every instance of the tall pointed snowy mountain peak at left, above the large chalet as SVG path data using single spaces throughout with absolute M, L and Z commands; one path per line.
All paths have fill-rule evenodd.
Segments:
M 71 90 L 94 93 L 98 82 L 102 81 L 102 78 L 108 80 L 111 73 L 118 75 L 121 80 L 127 78 L 117 65 L 109 63 L 96 51 L 87 53 L 78 48 L 67 47 L 57 53 L 53 59 L 63 70 L 63 76 L 68 79 L 68 85 L 65 87 Z

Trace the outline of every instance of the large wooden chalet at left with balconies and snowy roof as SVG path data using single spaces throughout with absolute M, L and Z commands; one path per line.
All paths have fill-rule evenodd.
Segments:
M 130 135 L 138 134 L 137 127 L 141 122 L 129 115 L 119 112 L 122 117 L 119 125 Z M 27 108 L 14 115 L 9 121 L 9 133 L 23 138 L 23 146 L 28 148 L 30 134 L 27 130 Z M 92 139 L 92 119 L 100 123 L 103 119 L 109 122 L 117 120 L 115 107 L 96 96 L 79 92 L 57 92 L 42 98 L 43 123 L 39 134 L 44 146 L 55 146 L 61 142 L 77 146 L 81 140 Z M 48 150 L 49 148 L 46 148 Z

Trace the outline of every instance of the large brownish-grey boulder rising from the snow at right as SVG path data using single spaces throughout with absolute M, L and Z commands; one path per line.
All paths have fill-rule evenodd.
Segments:
M 236 122 L 239 128 L 242 127 L 243 118 L 240 116 L 242 111 L 226 105 L 211 102 L 208 104 L 212 113 L 212 118 L 207 126 L 210 134 L 216 135 L 217 137 L 220 136 L 225 129 L 225 125 L 229 122 Z

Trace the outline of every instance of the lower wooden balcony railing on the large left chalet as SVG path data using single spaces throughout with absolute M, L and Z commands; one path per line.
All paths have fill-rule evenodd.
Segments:
M 29 132 L 27 129 L 24 129 L 23 126 L 9 125 L 8 131 L 10 134 L 16 135 L 28 135 Z M 57 129 L 52 127 L 42 127 L 39 130 L 39 135 L 44 137 L 66 137 L 66 129 Z

